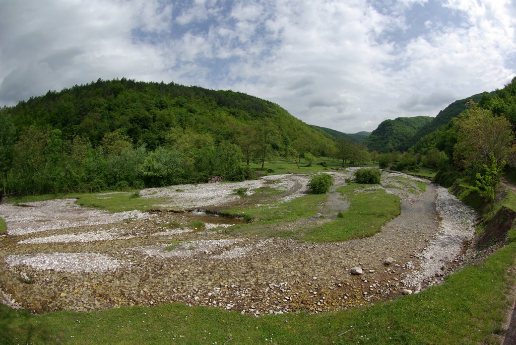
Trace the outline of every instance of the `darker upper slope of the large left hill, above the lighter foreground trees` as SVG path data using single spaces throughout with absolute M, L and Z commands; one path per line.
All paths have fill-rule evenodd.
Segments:
M 116 129 L 134 145 L 154 150 L 166 143 L 171 128 L 209 133 L 216 142 L 234 142 L 247 126 L 270 121 L 281 144 L 318 152 L 329 140 L 279 105 L 233 91 L 215 91 L 174 83 L 145 83 L 122 78 L 74 86 L 30 98 L 8 108 L 17 134 L 30 125 L 60 129 L 64 137 L 86 137 L 93 146 Z M 312 149 L 310 149 L 312 148 Z

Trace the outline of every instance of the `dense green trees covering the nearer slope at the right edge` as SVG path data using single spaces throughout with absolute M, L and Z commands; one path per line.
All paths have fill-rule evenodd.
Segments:
M 494 202 L 499 175 L 516 168 L 516 77 L 503 89 L 448 108 L 434 120 L 433 132 L 386 164 L 407 168 L 400 164 L 405 158 L 412 167 L 437 169 L 436 182 L 447 187 L 465 177 L 482 198 Z

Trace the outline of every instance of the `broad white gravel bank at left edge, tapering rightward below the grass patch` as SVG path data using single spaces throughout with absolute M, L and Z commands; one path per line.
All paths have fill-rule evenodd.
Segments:
M 74 204 L 75 199 L 55 199 L 29 202 L 18 206 L 0 204 L 0 216 L 4 218 L 9 235 L 25 235 L 42 231 L 63 229 L 83 225 L 102 225 L 120 222 L 124 219 L 150 219 L 150 213 L 107 211 L 84 208 Z

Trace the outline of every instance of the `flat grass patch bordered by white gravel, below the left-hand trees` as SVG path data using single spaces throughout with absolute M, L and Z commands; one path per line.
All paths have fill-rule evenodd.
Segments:
M 123 212 L 129 210 L 146 211 L 157 207 L 159 203 L 164 203 L 164 198 L 143 199 L 131 198 L 131 193 L 110 193 L 110 194 L 82 194 L 76 204 L 83 207 L 94 207 L 109 211 L 110 213 Z

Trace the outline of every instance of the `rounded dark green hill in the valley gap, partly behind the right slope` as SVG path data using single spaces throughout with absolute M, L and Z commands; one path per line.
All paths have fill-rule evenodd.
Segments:
M 417 131 L 432 120 L 428 116 L 385 120 L 365 139 L 364 144 L 369 151 L 376 150 L 379 153 L 406 151 Z

